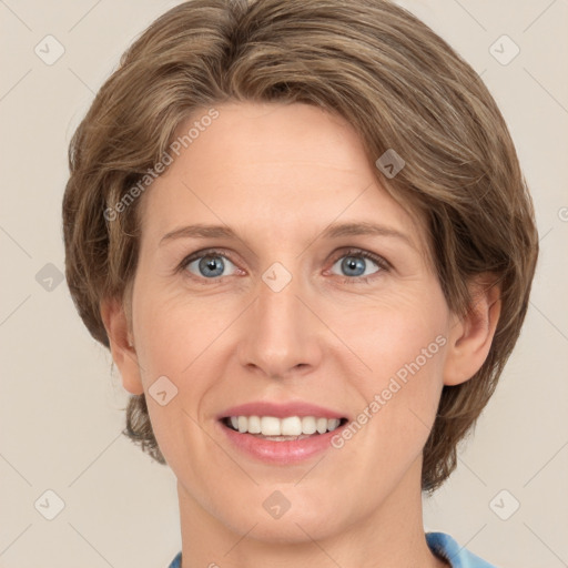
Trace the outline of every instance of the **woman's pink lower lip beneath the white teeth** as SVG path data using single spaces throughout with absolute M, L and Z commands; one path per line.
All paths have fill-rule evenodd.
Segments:
M 314 434 L 308 438 L 287 442 L 273 442 L 257 438 L 251 434 L 241 434 L 219 422 L 231 444 L 242 452 L 262 462 L 286 465 L 296 464 L 308 459 L 326 449 L 332 448 L 332 438 L 339 434 L 345 425 L 338 426 L 333 432 Z

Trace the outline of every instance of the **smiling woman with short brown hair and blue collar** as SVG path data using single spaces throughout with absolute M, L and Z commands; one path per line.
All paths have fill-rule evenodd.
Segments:
M 178 477 L 172 568 L 490 566 L 425 535 L 422 491 L 495 389 L 538 235 L 440 38 L 383 0 L 182 3 L 70 166 L 68 283 Z

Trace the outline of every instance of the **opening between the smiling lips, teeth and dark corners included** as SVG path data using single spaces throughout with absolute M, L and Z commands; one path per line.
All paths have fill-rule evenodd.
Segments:
M 344 426 L 347 418 L 316 416 L 226 416 L 221 423 L 231 430 L 271 442 L 295 442 L 321 436 Z

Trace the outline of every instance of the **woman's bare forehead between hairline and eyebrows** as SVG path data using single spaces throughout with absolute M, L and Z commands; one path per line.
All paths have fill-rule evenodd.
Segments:
M 424 241 L 341 116 L 298 103 L 215 110 L 212 121 L 200 122 L 207 115 L 202 109 L 179 126 L 174 138 L 185 135 L 185 144 L 143 197 L 143 239 L 200 222 L 290 241 L 332 223 L 364 221 L 388 224 L 417 247 Z

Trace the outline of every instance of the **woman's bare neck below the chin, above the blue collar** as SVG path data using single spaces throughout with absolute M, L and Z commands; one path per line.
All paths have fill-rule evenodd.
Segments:
M 278 541 L 263 537 L 258 524 L 227 526 L 179 481 L 182 568 L 447 567 L 426 544 L 420 471 L 422 456 L 377 510 L 356 523 L 337 525 L 341 530 L 329 530 L 317 540 L 310 536 L 300 517 L 293 523 L 295 536 Z M 321 534 L 321 527 L 318 530 Z

